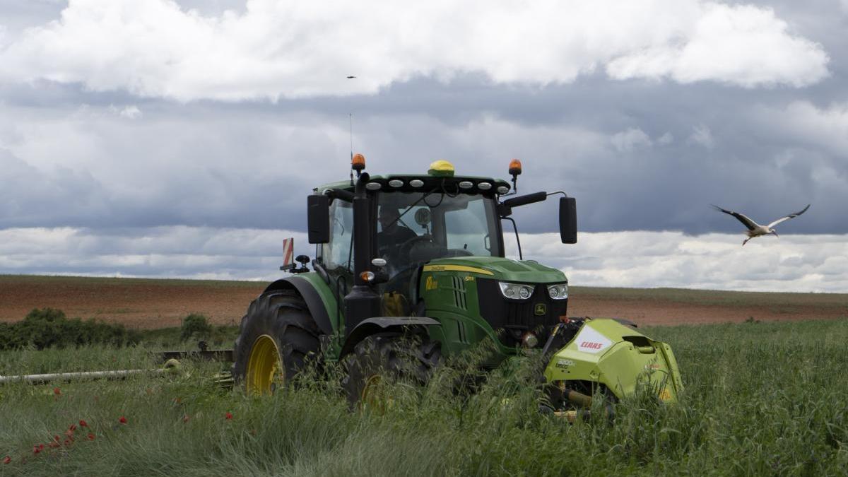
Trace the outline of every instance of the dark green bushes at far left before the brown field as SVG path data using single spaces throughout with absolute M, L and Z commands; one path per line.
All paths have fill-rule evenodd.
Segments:
M 84 345 L 134 345 L 141 335 L 124 325 L 106 323 L 93 318 L 69 319 L 64 311 L 41 308 L 30 311 L 18 323 L 0 323 L 0 350 L 16 350 L 33 346 L 65 348 Z

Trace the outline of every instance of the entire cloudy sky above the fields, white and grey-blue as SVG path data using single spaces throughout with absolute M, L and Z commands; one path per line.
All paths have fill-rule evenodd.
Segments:
M 352 114 L 372 172 L 518 157 L 520 191 L 577 197 L 577 245 L 553 201 L 516 212 L 574 284 L 845 292 L 846 27 L 845 0 L 0 0 L 0 273 L 275 278 Z M 742 248 L 710 204 L 812 207 Z

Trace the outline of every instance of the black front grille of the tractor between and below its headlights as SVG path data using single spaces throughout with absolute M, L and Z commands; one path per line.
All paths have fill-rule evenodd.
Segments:
M 548 328 L 560 323 L 566 314 L 568 300 L 551 300 L 546 284 L 537 284 L 533 295 L 527 300 L 508 300 L 500 293 L 497 280 L 477 279 L 477 300 L 480 315 L 495 331 L 499 331 L 500 342 L 507 346 L 520 344 L 522 334 L 537 328 Z M 537 314 L 544 306 L 544 313 Z M 544 345 L 547 334 L 537 334 L 539 346 Z

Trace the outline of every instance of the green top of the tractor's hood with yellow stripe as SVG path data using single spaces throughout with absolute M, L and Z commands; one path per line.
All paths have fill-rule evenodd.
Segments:
M 480 278 L 519 283 L 563 283 L 565 273 L 532 260 L 516 261 L 497 256 L 469 256 L 430 261 L 425 272 L 471 272 Z

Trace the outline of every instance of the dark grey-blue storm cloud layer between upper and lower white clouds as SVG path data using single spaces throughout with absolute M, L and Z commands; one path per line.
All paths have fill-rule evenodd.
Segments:
M 237 7 L 181 4 L 202 14 Z M 16 25 L 37 25 L 45 5 L 19 8 Z M 794 34 L 823 45 L 828 77 L 801 88 L 739 87 L 621 81 L 598 70 L 542 87 L 464 73 L 276 104 L 176 104 L 78 84 L 3 83 L 0 227 L 304 230 L 304 195 L 347 177 L 353 113 L 354 149 L 371 171 L 423 172 L 448 159 L 460 173 L 505 177 L 519 157 L 519 190 L 576 196 L 586 231 L 737 232 L 711 203 L 762 222 L 812 203 L 781 230 L 848 233 L 839 220 L 848 150 L 795 121 L 807 110 L 799 104 L 823 121 L 848 118 L 828 115 L 848 102 L 845 14 L 823 2 L 774 8 Z M 347 81 L 359 71 L 338 74 Z M 138 115 L 121 114 L 131 107 Z M 553 230 L 553 216 L 555 201 L 516 210 L 526 232 Z

